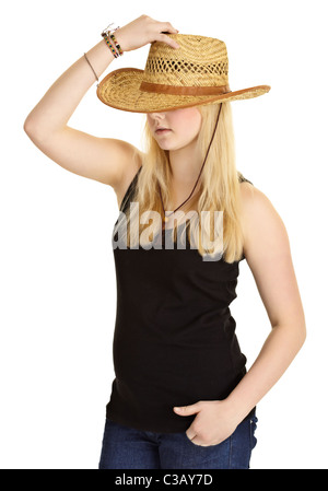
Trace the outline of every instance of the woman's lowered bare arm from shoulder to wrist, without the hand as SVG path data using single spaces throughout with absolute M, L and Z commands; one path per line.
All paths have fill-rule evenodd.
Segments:
M 244 187 L 244 194 L 247 194 Z M 302 348 L 306 323 L 285 226 L 270 200 L 255 188 L 244 200 L 245 256 L 266 307 L 271 332 L 248 373 L 229 396 L 245 418 L 279 381 Z

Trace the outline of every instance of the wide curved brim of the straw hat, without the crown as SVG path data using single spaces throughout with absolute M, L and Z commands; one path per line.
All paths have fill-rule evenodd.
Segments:
M 171 95 L 140 91 L 143 70 L 122 68 L 106 75 L 97 87 L 98 98 L 107 106 L 129 113 L 161 113 L 184 107 L 258 97 L 270 91 L 269 85 L 258 85 L 211 95 Z

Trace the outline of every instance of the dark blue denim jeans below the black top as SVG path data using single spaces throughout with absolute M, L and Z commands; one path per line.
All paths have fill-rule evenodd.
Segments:
M 257 418 L 218 445 L 196 445 L 186 432 L 154 433 L 106 420 L 99 469 L 249 469 Z

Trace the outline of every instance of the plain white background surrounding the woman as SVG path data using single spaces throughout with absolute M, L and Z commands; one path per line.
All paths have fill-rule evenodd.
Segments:
M 114 378 L 114 190 L 65 171 L 23 131 L 52 82 L 115 21 L 145 13 L 181 34 L 223 39 L 237 168 L 288 229 L 307 340 L 258 405 L 254 469 L 328 468 L 327 456 L 327 25 L 324 0 L 155 2 L 19 0 L 2 5 L 0 467 L 97 468 Z M 115 60 L 144 68 L 149 46 Z M 140 147 L 143 115 L 103 105 L 96 84 L 70 126 Z M 246 261 L 232 314 L 248 366 L 270 324 Z

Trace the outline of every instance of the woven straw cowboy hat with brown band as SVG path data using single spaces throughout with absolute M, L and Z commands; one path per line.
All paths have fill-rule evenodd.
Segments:
M 270 91 L 269 85 L 231 91 L 223 40 L 190 34 L 168 36 L 179 48 L 152 43 L 144 70 L 122 68 L 110 72 L 98 84 L 98 98 L 116 109 L 159 113 L 253 98 Z

